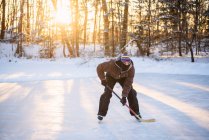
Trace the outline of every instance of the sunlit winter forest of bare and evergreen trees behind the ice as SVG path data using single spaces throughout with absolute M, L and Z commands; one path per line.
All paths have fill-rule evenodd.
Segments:
M 24 48 L 42 46 L 52 58 L 58 44 L 65 57 L 79 57 L 80 46 L 103 47 L 104 56 L 134 44 L 138 56 L 194 56 L 209 51 L 208 0 L 1 0 L 0 42 Z

